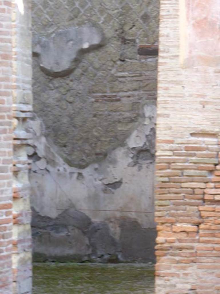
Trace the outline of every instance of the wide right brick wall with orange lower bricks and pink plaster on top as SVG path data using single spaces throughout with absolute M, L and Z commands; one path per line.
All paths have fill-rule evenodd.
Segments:
M 156 294 L 220 293 L 219 9 L 161 0 Z

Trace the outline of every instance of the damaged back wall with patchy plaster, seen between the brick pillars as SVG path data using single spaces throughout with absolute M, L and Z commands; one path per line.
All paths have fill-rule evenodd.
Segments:
M 35 260 L 154 260 L 158 2 L 33 0 Z

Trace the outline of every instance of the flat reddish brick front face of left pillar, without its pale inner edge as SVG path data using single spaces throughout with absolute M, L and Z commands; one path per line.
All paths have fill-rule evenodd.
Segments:
M 0 2 L 0 293 L 12 292 L 11 5 Z

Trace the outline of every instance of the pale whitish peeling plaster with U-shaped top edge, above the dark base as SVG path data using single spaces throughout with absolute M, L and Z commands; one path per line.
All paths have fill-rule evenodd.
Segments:
M 147 107 L 144 108 L 145 120 L 129 136 L 124 146 L 110 152 L 105 160 L 84 169 L 70 167 L 65 163 L 51 143 L 47 142 L 40 120 L 37 117 L 30 120 L 29 131 L 34 136 L 33 146 L 28 147 L 29 158 L 34 161 L 30 171 L 31 203 L 36 213 L 55 220 L 70 208 L 81 211 L 92 222 L 108 225 L 117 246 L 122 245 L 120 226 L 123 219 L 125 223 L 128 220 L 137 222 L 143 230 L 154 230 L 156 108 Z M 146 120 L 149 120 L 148 124 Z M 144 157 L 148 152 L 149 159 Z M 125 233 L 126 238 L 128 235 L 128 232 Z M 40 241 L 36 240 L 37 246 L 40 246 Z M 121 256 L 119 253 L 117 255 Z M 121 257 L 121 260 L 125 259 Z

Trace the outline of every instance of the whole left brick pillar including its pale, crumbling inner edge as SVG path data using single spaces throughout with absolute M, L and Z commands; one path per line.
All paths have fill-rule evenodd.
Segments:
M 16 3 L 0 2 L 1 294 L 31 292 L 29 161 L 25 151 L 30 143 L 25 123 L 32 102 L 30 3 L 24 3 L 24 10 Z

